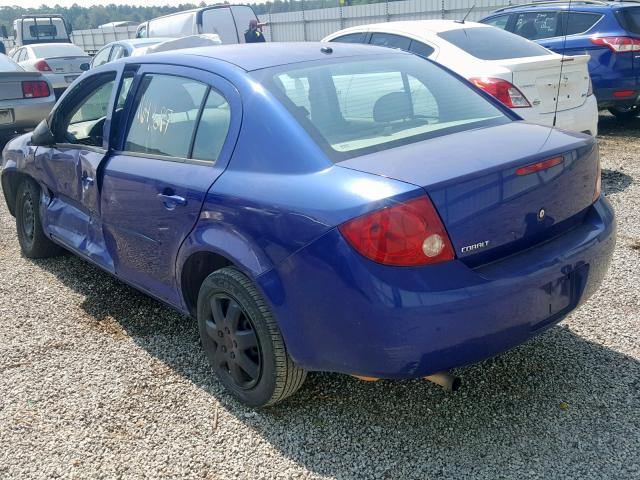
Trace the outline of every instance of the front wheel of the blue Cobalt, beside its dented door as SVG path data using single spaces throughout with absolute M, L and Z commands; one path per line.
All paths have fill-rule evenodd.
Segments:
M 62 252 L 42 230 L 40 188 L 30 178 L 20 183 L 16 193 L 16 231 L 20 249 L 27 258 L 53 257 Z

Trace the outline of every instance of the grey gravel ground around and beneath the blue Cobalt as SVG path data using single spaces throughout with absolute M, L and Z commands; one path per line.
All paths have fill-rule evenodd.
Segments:
M 312 374 L 252 412 L 192 320 L 73 256 L 22 258 L 2 202 L 0 478 L 640 478 L 640 120 L 600 123 L 604 286 L 453 395 Z

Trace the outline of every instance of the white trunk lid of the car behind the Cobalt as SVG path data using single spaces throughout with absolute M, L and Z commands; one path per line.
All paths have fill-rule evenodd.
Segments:
M 589 90 L 588 55 L 544 55 L 491 63 L 508 68 L 513 74 L 512 83 L 524 94 L 540 113 L 581 106 Z

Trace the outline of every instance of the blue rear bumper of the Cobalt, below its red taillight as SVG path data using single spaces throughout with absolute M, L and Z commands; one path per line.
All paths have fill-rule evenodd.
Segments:
M 415 378 L 474 363 L 556 324 L 598 288 L 615 245 L 601 197 L 565 234 L 504 260 L 388 267 L 333 229 L 258 277 L 309 370 Z

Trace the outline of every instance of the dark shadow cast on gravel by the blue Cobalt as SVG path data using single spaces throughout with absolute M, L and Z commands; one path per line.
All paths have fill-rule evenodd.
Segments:
M 496 478 L 500 472 L 500 478 L 544 478 L 555 472 L 554 478 L 629 478 L 620 465 L 627 455 L 631 464 L 637 462 L 640 362 L 564 327 L 459 369 L 463 387 L 452 395 L 421 380 L 367 383 L 310 374 L 286 403 L 253 413 L 212 377 L 195 321 L 76 257 L 37 263 L 86 297 L 82 308 L 90 326 L 117 334 L 115 323 L 315 474 Z M 619 458 L 610 452 L 620 452 Z

